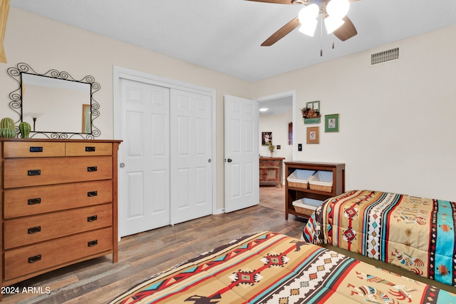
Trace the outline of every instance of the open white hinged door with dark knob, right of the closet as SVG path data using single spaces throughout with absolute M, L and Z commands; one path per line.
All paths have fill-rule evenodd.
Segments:
M 257 101 L 224 96 L 225 212 L 259 203 Z

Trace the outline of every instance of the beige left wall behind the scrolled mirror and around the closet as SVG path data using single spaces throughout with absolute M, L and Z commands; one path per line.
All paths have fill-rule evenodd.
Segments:
M 8 96 L 17 85 L 6 69 L 20 62 L 29 64 L 38 73 L 57 69 L 68 71 L 74 78 L 94 76 L 101 86 L 95 93 L 95 100 L 100 103 L 100 117 L 95 120 L 101 131 L 100 139 L 113 138 L 113 66 L 214 88 L 217 91 L 217 208 L 223 208 L 223 96 L 251 97 L 249 82 L 12 7 L 6 29 L 4 46 L 8 63 L 0 63 L 0 70 L 4 71 L 0 73 L 0 116 L 14 121 L 19 116 L 9 108 Z

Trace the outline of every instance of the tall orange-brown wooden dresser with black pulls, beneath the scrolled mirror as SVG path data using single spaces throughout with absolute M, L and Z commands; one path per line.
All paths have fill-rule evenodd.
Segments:
M 120 141 L 0 143 L 2 286 L 111 253 L 117 263 Z

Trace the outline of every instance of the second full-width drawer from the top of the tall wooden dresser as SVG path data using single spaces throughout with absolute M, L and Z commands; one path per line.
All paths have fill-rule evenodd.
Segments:
M 4 218 L 32 216 L 112 201 L 113 183 L 110 180 L 11 188 L 4 192 Z

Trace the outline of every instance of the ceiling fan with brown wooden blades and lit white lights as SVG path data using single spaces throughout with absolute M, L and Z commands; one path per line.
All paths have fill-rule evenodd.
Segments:
M 261 46 L 271 46 L 280 39 L 284 38 L 291 31 L 301 26 L 299 31 L 309 36 L 314 36 L 317 20 L 319 14 L 324 18 L 326 30 L 328 34 L 331 32 L 341 41 L 351 39 L 351 37 L 358 34 L 355 26 L 350 19 L 346 16 L 348 11 L 348 2 L 358 0 L 247 0 L 254 2 L 265 2 L 273 4 L 304 4 L 304 8 L 299 12 L 299 16 L 289 21 L 289 23 L 282 26 L 278 31 L 272 34 Z M 344 6 L 342 9 L 336 7 L 341 4 Z M 348 4 L 348 6 L 347 6 Z M 341 12 L 343 11 L 343 12 Z M 341 13 L 341 15 L 339 15 Z M 343 14 L 345 13 L 345 14 Z M 337 27 L 338 26 L 338 27 Z M 336 29 L 334 29 L 336 28 Z

